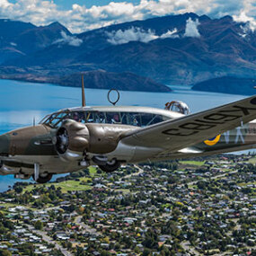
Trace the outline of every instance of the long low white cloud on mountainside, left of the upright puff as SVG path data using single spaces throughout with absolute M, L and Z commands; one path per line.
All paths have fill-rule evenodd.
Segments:
M 108 36 L 108 42 L 110 42 L 110 44 L 119 45 L 128 43 L 130 41 L 147 43 L 151 40 L 177 38 L 179 35 L 175 34 L 176 32 L 177 29 L 174 29 L 173 31 L 167 31 L 166 33 L 158 36 L 154 33 L 154 31 L 144 31 L 141 28 L 131 27 L 125 31 L 118 30 L 106 32 L 106 35 Z

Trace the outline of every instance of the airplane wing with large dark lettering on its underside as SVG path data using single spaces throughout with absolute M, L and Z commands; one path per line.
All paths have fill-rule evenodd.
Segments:
M 180 119 L 130 131 L 121 138 L 121 142 L 129 146 L 162 148 L 161 154 L 172 153 L 216 137 L 252 119 L 256 119 L 256 95 Z

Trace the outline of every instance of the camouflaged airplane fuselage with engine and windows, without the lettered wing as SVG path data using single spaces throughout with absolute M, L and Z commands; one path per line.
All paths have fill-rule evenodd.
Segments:
M 130 146 L 123 143 L 121 138 L 143 128 L 144 124 L 150 126 L 168 119 L 179 119 L 182 115 L 169 110 L 141 109 L 107 107 L 60 110 L 37 126 L 7 132 L 0 136 L 0 174 L 29 178 L 39 168 L 37 175 L 47 175 L 75 172 L 91 164 L 98 164 L 105 170 L 104 164 L 111 166 L 112 162 L 139 163 L 185 158 L 256 146 L 256 123 L 252 121 L 159 158 L 156 155 L 163 151 L 161 146 Z M 74 117 L 77 113 L 80 119 L 76 120 Z M 100 121 L 96 123 L 97 120 Z M 63 130 L 62 124 L 66 124 Z

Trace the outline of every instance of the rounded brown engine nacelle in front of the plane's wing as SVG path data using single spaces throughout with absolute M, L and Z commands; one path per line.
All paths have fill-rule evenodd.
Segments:
M 81 159 L 84 152 L 108 154 L 115 150 L 122 130 L 108 124 L 83 124 L 67 119 L 57 129 L 53 144 L 64 161 Z

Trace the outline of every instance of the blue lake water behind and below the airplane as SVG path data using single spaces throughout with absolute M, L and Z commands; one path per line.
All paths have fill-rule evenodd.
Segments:
M 191 91 L 190 86 L 171 86 L 171 93 L 120 92 L 119 105 L 164 108 L 166 102 L 186 102 L 192 112 L 207 110 L 228 102 L 245 98 L 245 95 L 205 93 Z M 86 104 L 110 105 L 108 90 L 85 89 Z M 0 134 L 14 128 L 31 126 L 50 112 L 81 105 L 81 89 L 52 84 L 33 84 L 0 80 Z M 7 190 L 16 180 L 13 176 L 0 176 L 0 192 Z

